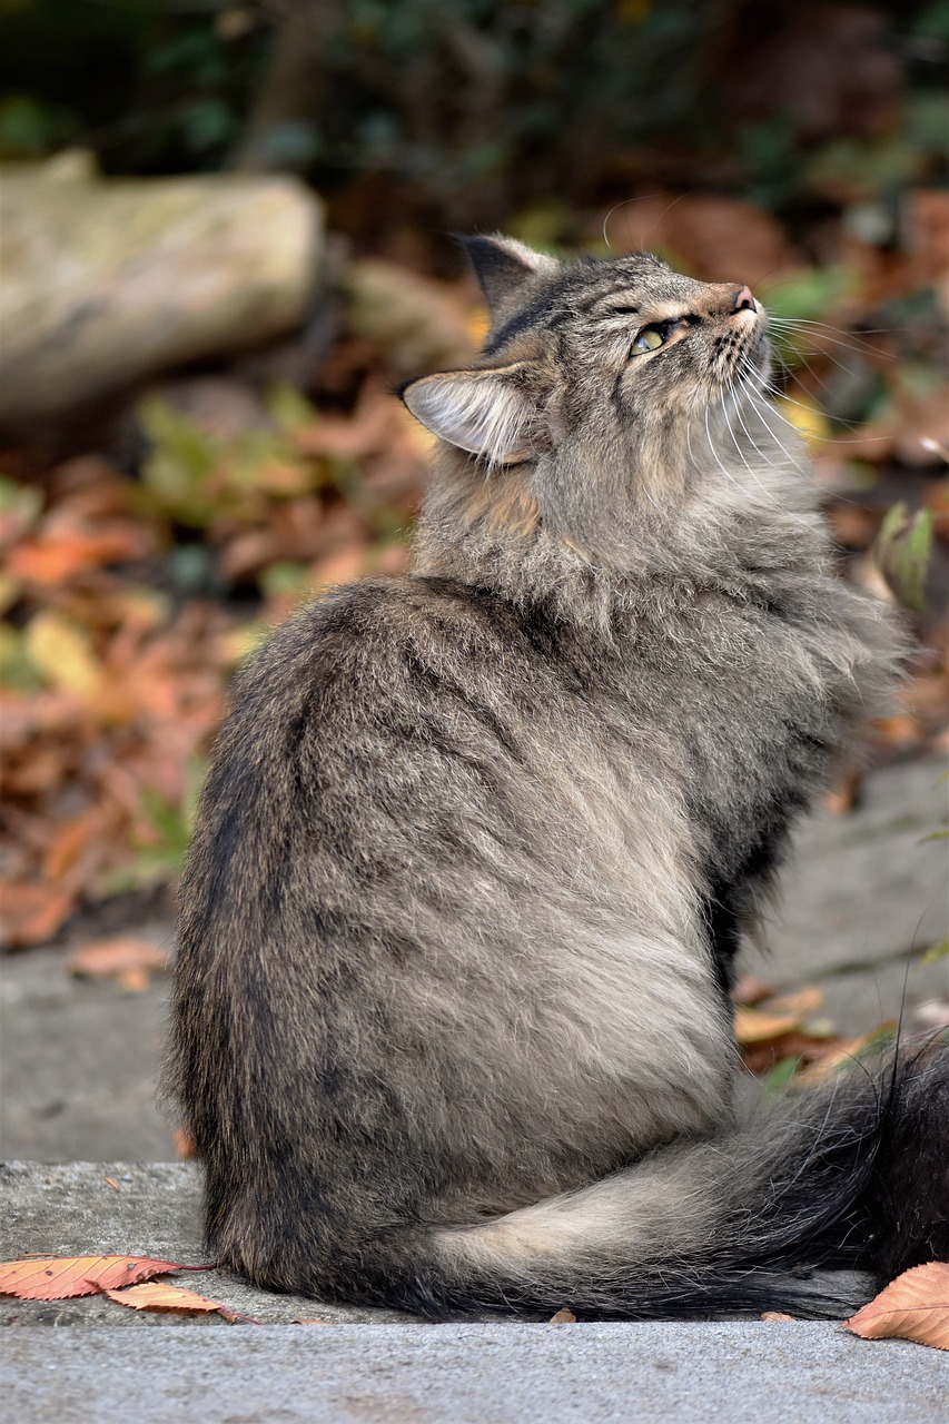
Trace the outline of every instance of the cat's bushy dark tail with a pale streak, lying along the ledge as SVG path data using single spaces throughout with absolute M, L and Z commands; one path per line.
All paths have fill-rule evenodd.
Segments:
M 834 1317 L 930 1259 L 949 1259 L 949 1044 L 856 1065 L 581 1190 L 436 1229 L 435 1272 L 400 1303 Z

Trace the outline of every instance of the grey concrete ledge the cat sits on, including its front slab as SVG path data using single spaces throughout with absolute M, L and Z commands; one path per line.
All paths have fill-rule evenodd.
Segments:
M 107 1178 L 115 1183 L 110 1185 Z M 199 1265 L 195 1163 L 0 1166 L 0 1259 L 128 1253 Z M 948 1361 L 835 1324 L 423 1326 L 184 1277 L 261 1321 L 0 1300 L 4 1418 L 90 1424 L 942 1424 Z M 301 1321 L 325 1321 L 302 1324 Z M 43 1329 L 73 1326 L 74 1329 Z M 383 1327 L 383 1329 L 379 1329 Z

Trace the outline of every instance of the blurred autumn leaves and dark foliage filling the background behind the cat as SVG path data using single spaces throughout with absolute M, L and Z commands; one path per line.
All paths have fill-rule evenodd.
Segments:
M 286 339 L 0 437 L 7 944 L 164 893 L 248 649 L 405 568 L 389 392 L 484 329 L 453 229 L 761 290 L 842 571 L 918 635 L 876 752 L 945 745 L 949 0 L 0 0 L 0 37 L 10 172 L 289 172 L 329 234 Z

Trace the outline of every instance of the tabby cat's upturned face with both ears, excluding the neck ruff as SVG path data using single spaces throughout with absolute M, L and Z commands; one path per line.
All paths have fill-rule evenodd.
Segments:
M 482 357 L 402 394 L 487 468 L 577 446 L 634 467 L 663 430 L 724 412 L 767 370 L 764 312 L 741 283 L 697 282 L 648 253 L 563 265 L 507 238 L 466 246 L 492 312 Z

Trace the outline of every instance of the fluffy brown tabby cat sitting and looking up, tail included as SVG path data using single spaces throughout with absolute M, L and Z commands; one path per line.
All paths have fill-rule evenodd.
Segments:
M 466 246 L 483 352 L 402 390 L 413 570 L 276 632 L 204 792 L 168 1082 L 208 1242 L 432 1317 L 848 1310 L 949 1255 L 949 1054 L 762 1118 L 728 988 L 901 634 L 747 286 Z

